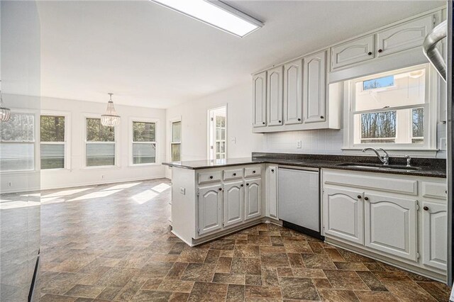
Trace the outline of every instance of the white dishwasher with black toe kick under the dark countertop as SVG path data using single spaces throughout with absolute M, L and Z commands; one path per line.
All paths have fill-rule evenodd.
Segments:
M 277 184 L 278 213 L 284 227 L 321 237 L 319 169 L 281 166 Z

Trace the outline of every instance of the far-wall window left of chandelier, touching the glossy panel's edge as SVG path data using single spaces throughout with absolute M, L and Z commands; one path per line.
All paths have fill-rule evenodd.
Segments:
M 41 169 L 65 168 L 66 138 L 65 116 L 40 117 Z

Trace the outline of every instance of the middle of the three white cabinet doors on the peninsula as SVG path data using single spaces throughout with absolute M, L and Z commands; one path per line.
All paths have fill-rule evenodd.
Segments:
M 243 221 L 244 184 L 236 181 L 224 184 L 224 226 Z

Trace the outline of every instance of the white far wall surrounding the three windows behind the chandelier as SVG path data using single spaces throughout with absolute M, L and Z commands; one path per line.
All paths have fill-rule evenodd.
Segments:
M 107 100 L 106 95 L 106 100 Z M 115 99 L 114 99 L 115 102 Z M 165 159 L 165 110 L 116 105 L 121 116 L 118 125 L 118 167 L 84 167 L 84 125 L 85 115 L 100 116 L 106 104 L 65 99 L 41 99 L 42 111 L 63 111 L 70 113 L 70 169 L 41 170 L 41 188 L 60 188 L 87 184 L 111 183 L 135 179 L 165 177 L 165 168 L 160 164 Z M 157 162 L 150 166 L 131 166 L 131 118 L 157 120 Z M 102 178 L 104 176 L 104 178 Z

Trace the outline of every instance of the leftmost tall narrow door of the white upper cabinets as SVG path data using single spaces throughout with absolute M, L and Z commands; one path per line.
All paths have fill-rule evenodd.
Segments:
M 253 77 L 253 127 L 265 127 L 267 121 L 267 72 Z

